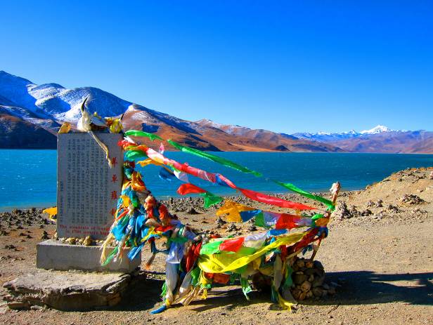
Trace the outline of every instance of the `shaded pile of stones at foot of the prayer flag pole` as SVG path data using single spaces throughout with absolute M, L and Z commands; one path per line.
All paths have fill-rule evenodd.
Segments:
M 318 260 L 311 262 L 306 258 L 296 258 L 292 265 L 293 298 L 302 301 L 308 298 L 322 298 L 335 294 L 337 284 L 325 284 L 325 270 Z

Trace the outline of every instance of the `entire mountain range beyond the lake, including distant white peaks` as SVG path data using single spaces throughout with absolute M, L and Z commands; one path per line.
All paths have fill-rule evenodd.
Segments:
M 285 152 L 433 152 L 433 132 L 395 131 L 386 126 L 342 133 L 276 133 L 209 119 L 186 121 L 150 110 L 93 87 L 68 89 L 59 84 L 37 85 L 0 71 L 0 147 L 56 147 L 63 121 L 72 126 L 89 97 L 89 111 L 103 117 L 124 114 L 124 129 L 141 129 L 200 148 L 224 151 Z

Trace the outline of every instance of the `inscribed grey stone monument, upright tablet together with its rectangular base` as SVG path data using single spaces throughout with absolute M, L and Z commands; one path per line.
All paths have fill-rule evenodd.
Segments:
M 89 133 L 60 133 L 57 145 L 57 234 L 58 238 L 93 241 L 107 237 L 122 190 L 123 154 L 117 145 L 122 135 L 96 133 L 108 147 L 111 167 L 104 150 Z M 131 272 L 141 263 L 124 258 L 101 266 L 100 246 L 65 244 L 47 240 L 37 245 L 37 267 L 54 270 Z

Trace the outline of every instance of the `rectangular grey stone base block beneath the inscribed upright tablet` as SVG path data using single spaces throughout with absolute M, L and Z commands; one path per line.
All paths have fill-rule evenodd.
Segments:
M 63 244 L 56 240 L 46 240 L 37 244 L 36 267 L 46 270 L 84 270 L 91 272 L 131 273 L 141 264 L 141 254 L 129 260 L 129 248 L 125 248 L 122 260 L 102 266 L 101 246 Z

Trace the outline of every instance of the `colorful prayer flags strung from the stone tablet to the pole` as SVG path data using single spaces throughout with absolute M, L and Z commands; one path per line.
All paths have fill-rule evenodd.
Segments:
M 125 135 L 162 140 L 157 135 L 143 131 L 127 131 Z M 167 207 L 152 196 L 143 182 L 141 173 L 136 170 L 136 165 L 155 164 L 162 166 L 160 169 L 161 178 L 169 179 L 176 176 L 185 182 L 179 186 L 177 192 L 181 195 L 198 194 L 202 196 L 205 207 L 217 204 L 223 201 L 223 198 L 189 183 L 187 175 L 231 187 L 245 197 L 261 203 L 295 210 L 312 210 L 314 208 L 237 187 L 224 175 L 209 173 L 164 157 L 162 154 L 164 148 L 160 149 L 160 152 L 156 152 L 145 145 L 137 145 L 127 139 L 120 142 L 120 145 L 125 150 L 124 183 L 122 193 L 117 201 L 115 221 L 103 244 L 102 265 L 123 258 L 125 247 L 129 247 L 127 257 L 134 259 L 148 244 L 152 256 L 146 263 L 146 267 L 150 267 L 155 255 L 161 252 L 155 244 L 155 239 L 164 238 L 167 240 L 167 249 L 164 249 L 164 253 L 167 253 L 167 259 L 166 279 L 162 288 L 163 305 L 153 310 L 152 313 L 162 312 L 176 303 L 188 305 L 199 296 L 206 298 L 207 290 L 213 284 L 227 284 L 228 281 L 235 279 L 240 281 L 243 293 L 248 299 L 247 295 L 252 291 L 248 279 L 254 274 L 266 274 L 266 276 L 271 277 L 272 300 L 279 303 L 281 307 L 290 310 L 295 300 L 285 300 L 281 294 L 283 290 L 290 288 L 292 281 L 290 258 L 299 254 L 314 241 L 318 241 L 320 244 L 328 233 L 326 225 L 330 219 L 329 210 L 325 212 L 325 215 L 316 214 L 313 217 L 306 217 L 298 214 L 263 211 L 226 200 L 216 211 L 216 215 L 226 215 L 228 220 L 235 222 L 247 222 L 247 220 L 255 218 L 255 224 L 264 227 L 266 231 L 228 238 L 198 234 L 174 218 Z M 224 163 L 226 162 L 224 161 Z M 325 199 L 318 199 L 314 194 L 299 190 L 297 187 L 287 185 L 288 187 L 310 199 L 321 201 L 329 208 L 331 208 L 329 202 L 335 206 L 336 194 L 339 190 L 337 186 L 332 201 L 328 202 Z M 306 230 L 302 232 L 290 231 L 298 227 L 306 227 Z

